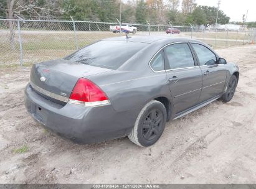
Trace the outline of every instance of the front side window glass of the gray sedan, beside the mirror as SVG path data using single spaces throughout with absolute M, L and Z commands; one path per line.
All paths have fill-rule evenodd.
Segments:
M 216 55 L 209 48 L 200 44 L 192 44 L 192 47 L 196 51 L 201 66 L 216 64 Z

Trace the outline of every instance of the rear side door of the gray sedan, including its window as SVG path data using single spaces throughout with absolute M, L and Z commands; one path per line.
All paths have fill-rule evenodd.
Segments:
M 164 47 L 166 77 L 176 114 L 196 105 L 202 88 L 202 73 L 187 43 Z

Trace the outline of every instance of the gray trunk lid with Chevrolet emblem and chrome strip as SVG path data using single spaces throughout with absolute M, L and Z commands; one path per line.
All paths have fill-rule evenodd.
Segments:
M 93 67 L 82 63 L 58 59 L 36 63 L 31 69 L 31 86 L 50 99 L 67 102 L 79 78 L 97 75 L 107 68 Z

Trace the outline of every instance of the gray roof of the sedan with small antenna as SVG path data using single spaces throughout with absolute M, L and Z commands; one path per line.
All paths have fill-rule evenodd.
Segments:
M 159 40 L 168 40 L 170 43 L 174 42 L 200 42 L 199 40 L 194 39 L 188 39 L 183 37 L 173 37 L 171 38 L 169 35 L 163 36 L 163 35 L 128 35 L 128 39 L 126 39 L 126 36 L 120 36 L 120 37 L 110 37 L 107 39 L 102 40 L 120 40 L 120 41 L 130 41 L 130 42 L 140 42 L 140 43 L 146 43 L 146 44 L 152 44 L 154 42 L 157 42 Z M 201 43 L 201 42 L 200 42 Z

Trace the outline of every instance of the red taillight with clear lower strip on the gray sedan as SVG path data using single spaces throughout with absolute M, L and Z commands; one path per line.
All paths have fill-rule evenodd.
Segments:
M 69 103 L 98 106 L 109 104 L 110 102 L 107 95 L 97 85 L 90 80 L 80 78 L 70 94 Z

